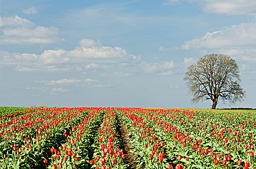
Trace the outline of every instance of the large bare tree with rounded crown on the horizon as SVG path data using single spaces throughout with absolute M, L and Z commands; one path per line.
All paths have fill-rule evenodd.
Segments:
M 192 102 L 212 100 L 215 109 L 218 99 L 232 103 L 243 100 L 245 91 L 240 86 L 239 68 L 227 55 L 210 54 L 188 67 L 184 80 L 192 94 Z

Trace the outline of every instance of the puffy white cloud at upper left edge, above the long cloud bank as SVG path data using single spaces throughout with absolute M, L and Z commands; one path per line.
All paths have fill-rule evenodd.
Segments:
M 0 17 L 0 44 L 42 44 L 62 42 L 59 29 L 35 26 L 30 20 L 19 16 Z

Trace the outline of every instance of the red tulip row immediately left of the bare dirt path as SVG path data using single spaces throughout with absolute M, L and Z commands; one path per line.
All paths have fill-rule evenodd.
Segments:
M 96 142 L 93 145 L 95 153 L 90 163 L 93 169 L 124 169 L 123 159 L 127 154 L 121 149 L 118 137 L 118 122 L 114 108 L 106 109 L 103 123 L 99 126 Z

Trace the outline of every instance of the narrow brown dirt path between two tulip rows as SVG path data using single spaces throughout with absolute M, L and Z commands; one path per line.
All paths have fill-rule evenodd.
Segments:
M 122 121 L 117 117 L 117 121 L 118 121 L 118 126 L 117 126 L 117 130 L 119 130 L 119 134 L 121 136 L 121 141 L 122 141 L 122 145 L 123 145 L 123 154 L 128 154 L 128 158 L 126 158 L 124 160 L 125 164 L 128 164 L 128 168 L 127 169 L 136 169 L 136 155 L 134 155 L 133 153 L 130 152 L 131 150 L 131 144 L 129 143 L 130 139 L 128 136 L 128 129 L 126 128 L 126 126 L 122 123 Z

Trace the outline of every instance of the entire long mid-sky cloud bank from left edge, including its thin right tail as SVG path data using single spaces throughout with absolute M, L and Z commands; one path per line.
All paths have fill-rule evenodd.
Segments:
M 90 45 L 87 46 L 95 46 L 78 46 L 73 50 L 45 50 L 41 54 L 0 51 L 0 66 L 12 67 L 17 71 L 86 70 L 82 73 L 120 77 L 136 73 L 170 75 L 175 67 L 172 60 L 144 62 L 141 56 L 129 54 L 121 47 L 102 46 L 93 40 L 87 42 L 90 42 Z M 48 83 L 56 84 L 58 82 Z

